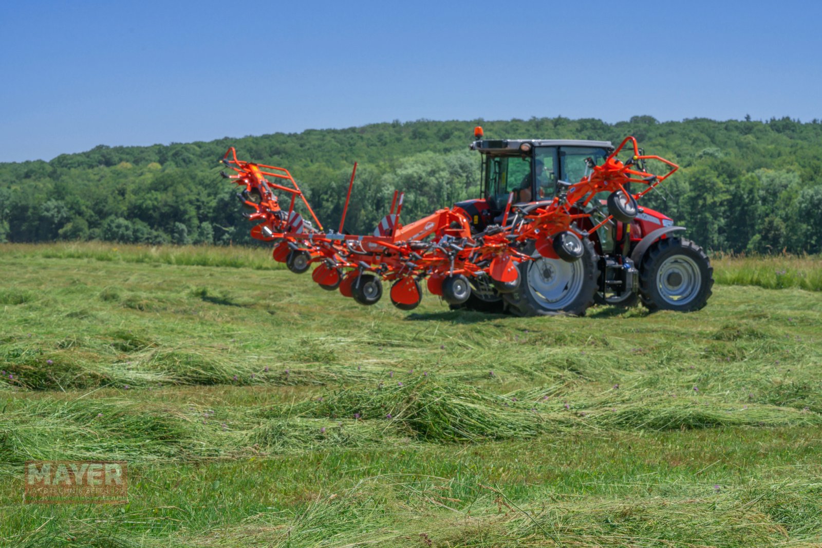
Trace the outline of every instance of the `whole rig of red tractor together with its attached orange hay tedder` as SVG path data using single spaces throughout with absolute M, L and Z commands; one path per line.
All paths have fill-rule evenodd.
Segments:
M 273 243 L 276 261 L 295 273 L 316 264 L 317 284 L 360 304 L 380 300 L 387 281 L 391 302 L 414 309 L 425 281 L 452 309 L 517 315 L 583 314 L 594 302 L 704 306 L 713 286 L 708 257 L 672 235 L 683 227 L 638 204 L 676 164 L 646 156 L 634 137 L 614 148 L 601 141 L 488 141 L 482 128 L 474 133 L 483 197 L 404 225 L 404 194 L 395 191 L 372 235 L 343 232 L 356 164 L 337 231 L 323 228 L 284 168 L 238 160 L 232 147 L 222 162 L 236 174 L 222 174 L 242 187 L 238 197 L 256 223 L 252 237 Z M 653 174 L 649 161 L 664 173 Z M 298 203 L 311 221 L 296 211 Z

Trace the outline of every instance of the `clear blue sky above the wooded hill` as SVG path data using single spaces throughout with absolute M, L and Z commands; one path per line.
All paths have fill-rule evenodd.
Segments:
M 822 2 L 16 2 L 0 161 L 393 119 L 808 121 L 820 21 Z

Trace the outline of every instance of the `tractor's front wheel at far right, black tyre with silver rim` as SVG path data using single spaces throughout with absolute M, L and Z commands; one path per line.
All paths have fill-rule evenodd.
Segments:
M 712 287 L 708 255 L 690 239 L 660 239 L 640 261 L 640 299 L 649 310 L 702 309 Z

